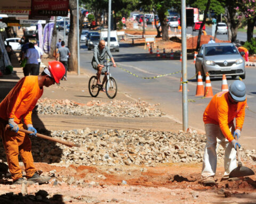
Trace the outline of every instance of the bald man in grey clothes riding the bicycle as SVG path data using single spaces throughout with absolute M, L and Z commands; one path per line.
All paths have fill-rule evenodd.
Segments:
M 110 50 L 108 47 L 105 46 L 105 40 L 100 40 L 100 43 L 98 46 L 94 47 L 94 55 L 92 58 L 92 67 L 94 70 L 97 70 L 97 84 L 104 84 L 104 82 L 106 81 L 106 76 L 107 76 L 107 69 L 106 67 L 103 65 L 104 59 L 106 54 L 109 56 L 110 60 L 113 63 L 113 66 L 116 67 L 116 63 L 114 61 L 113 56 L 110 53 Z M 105 74 L 105 77 L 102 81 L 102 83 L 100 83 L 100 74 Z

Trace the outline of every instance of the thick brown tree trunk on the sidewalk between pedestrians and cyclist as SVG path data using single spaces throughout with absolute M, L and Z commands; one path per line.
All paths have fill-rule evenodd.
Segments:
M 69 0 L 70 25 L 68 34 L 68 48 L 70 57 L 68 60 L 68 70 L 77 72 L 77 10 L 76 0 Z

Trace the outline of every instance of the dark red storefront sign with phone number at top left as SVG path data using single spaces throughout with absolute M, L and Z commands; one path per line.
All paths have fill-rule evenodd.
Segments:
M 69 0 L 32 0 L 32 16 L 67 16 Z

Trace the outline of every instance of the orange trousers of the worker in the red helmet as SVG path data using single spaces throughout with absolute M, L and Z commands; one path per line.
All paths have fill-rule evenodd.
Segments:
M 13 181 L 22 177 L 22 171 L 19 166 L 19 154 L 25 166 L 26 177 L 30 178 L 36 172 L 34 159 L 31 153 L 31 141 L 29 136 L 23 132 L 14 132 L 5 130 L 7 123 L 0 121 L 0 135 L 3 139 L 5 154 L 9 171 L 12 174 Z M 23 124 L 18 124 L 19 128 L 23 128 Z

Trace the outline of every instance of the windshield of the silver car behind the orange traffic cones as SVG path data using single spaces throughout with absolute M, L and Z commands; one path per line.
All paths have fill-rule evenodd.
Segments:
M 212 55 L 237 55 L 234 45 L 205 47 L 205 56 Z

